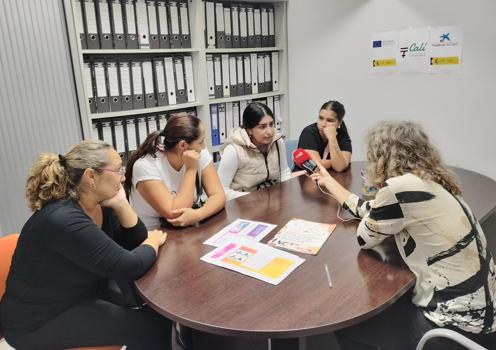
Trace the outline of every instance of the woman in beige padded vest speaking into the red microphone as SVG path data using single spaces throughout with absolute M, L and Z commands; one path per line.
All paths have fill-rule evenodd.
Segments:
M 228 200 L 291 178 L 282 134 L 276 132 L 274 114 L 263 103 L 250 103 L 242 126 L 230 133 L 219 176 Z

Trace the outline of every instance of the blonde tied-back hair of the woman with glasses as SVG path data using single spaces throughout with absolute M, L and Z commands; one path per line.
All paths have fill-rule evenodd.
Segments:
M 77 200 L 84 171 L 110 164 L 110 149 L 112 146 L 103 141 L 87 140 L 73 146 L 65 156 L 40 154 L 26 181 L 28 207 L 37 211 L 54 200 Z

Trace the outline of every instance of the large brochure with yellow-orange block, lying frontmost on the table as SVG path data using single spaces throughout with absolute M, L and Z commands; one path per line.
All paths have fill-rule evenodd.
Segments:
M 277 285 L 305 261 L 294 254 L 246 238 L 234 238 L 201 260 Z

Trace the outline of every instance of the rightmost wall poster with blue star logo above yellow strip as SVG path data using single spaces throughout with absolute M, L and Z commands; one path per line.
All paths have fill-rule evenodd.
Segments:
M 462 61 L 463 26 L 430 29 L 429 73 L 459 70 Z

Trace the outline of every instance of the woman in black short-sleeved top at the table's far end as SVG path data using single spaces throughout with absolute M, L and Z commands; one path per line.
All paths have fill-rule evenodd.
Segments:
M 344 114 L 344 106 L 338 101 L 324 103 L 317 123 L 303 129 L 298 140 L 298 148 L 305 149 L 326 169 L 343 171 L 350 165 L 351 139 L 343 122 Z M 301 169 L 295 166 L 295 170 Z

